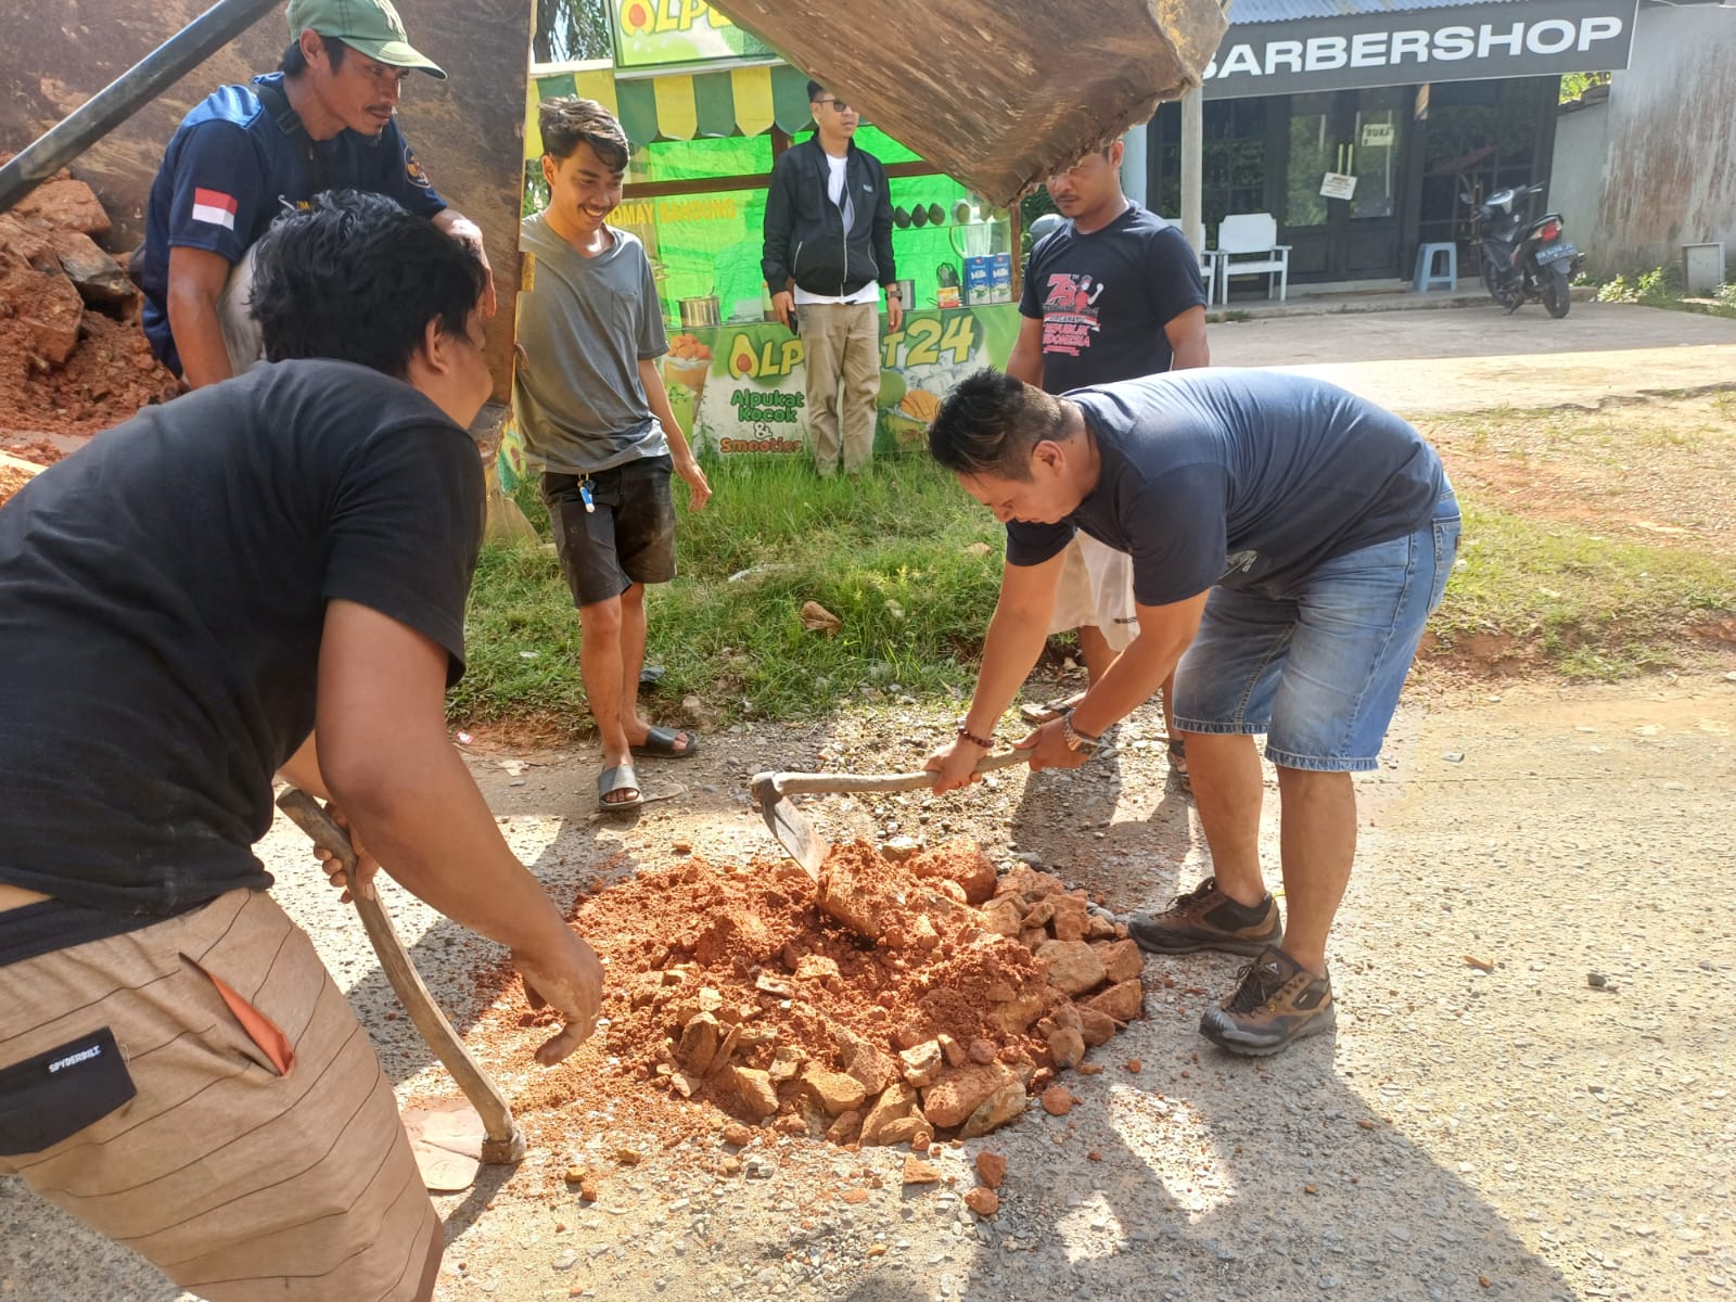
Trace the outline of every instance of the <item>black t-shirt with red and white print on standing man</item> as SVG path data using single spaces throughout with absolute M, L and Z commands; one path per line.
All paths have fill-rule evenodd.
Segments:
M 1163 326 L 1205 306 L 1200 259 L 1174 226 L 1132 203 L 1101 231 L 1068 222 L 1024 267 L 1019 314 L 1043 323 L 1043 389 L 1134 380 L 1170 368 Z

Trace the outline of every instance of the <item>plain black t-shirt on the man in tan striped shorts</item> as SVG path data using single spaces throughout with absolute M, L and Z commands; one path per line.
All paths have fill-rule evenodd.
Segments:
M 271 885 L 250 847 L 326 602 L 457 681 L 481 531 L 470 437 L 340 361 L 255 366 L 36 476 L 0 507 L 0 882 L 151 917 Z

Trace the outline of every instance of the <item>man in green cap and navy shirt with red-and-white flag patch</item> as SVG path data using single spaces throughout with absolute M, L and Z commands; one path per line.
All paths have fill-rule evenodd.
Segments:
M 394 122 L 411 69 L 446 73 L 410 45 L 391 0 L 290 0 L 288 21 L 278 71 L 194 108 L 151 184 L 134 273 L 144 333 L 193 389 L 259 359 L 248 250 L 319 191 L 385 194 L 488 266 L 481 229 L 446 207 Z M 484 311 L 495 311 L 493 278 Z

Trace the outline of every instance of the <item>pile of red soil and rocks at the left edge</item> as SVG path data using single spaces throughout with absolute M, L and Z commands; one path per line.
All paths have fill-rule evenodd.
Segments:
M 123 259 L 97 245 L 108 229 L 97 196 L 66 172 L 0 214 L 0 439 L 9 444 L 94 434 L 175 396 L 175 377 L 139 328 Z

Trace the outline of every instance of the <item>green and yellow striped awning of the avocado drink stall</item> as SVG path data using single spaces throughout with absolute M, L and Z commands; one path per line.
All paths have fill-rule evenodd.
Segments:
M 529 80 L 526 158 L 542 156 L 538 101 L 575 94 L 606 104 L 635 146 L 694 137 L 762 135 L 773 125 L 793 135 L 811 122 L 807 75 L 788 64 L 620 80 L 608 68 L 557 73 Z

